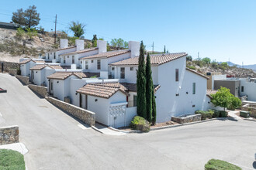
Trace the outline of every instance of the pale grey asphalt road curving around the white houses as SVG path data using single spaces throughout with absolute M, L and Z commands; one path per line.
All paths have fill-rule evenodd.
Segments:
M 218 158 L 254 169 L 256 122 L 209 121 L 147 134 L 99 134 L 0 73 L 0 126 L 19 125 L 33 169 L 204 169 Z M 2 117 L 1 117 L 2 114 Z

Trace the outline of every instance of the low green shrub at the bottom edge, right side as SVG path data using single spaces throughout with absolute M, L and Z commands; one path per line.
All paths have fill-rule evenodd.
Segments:
M 227 169 L 241 170 L 242 168 L 218 159 L 211 159 L 205 165 L 205 169 L 206 170 L 227 170 Z

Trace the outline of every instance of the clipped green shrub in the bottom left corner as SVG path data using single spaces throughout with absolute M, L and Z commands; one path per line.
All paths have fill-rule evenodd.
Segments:
M 25 170 L 24 156 L 19 151 L 0 149 L 0 169 Z

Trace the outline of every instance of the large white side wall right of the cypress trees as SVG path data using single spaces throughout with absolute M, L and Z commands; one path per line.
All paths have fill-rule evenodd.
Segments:
M 185 68 L 185 57 L 158 66 L 158 83 L 161 87 L 156 93 L 157 122 L 170 121 L 172 116 L 204 110 L 207 80 Z M 178 82 L 175 81 L 175 69 L 179 72 Z M 195 83 L 195 94 L 192 94 L 192 83 Z

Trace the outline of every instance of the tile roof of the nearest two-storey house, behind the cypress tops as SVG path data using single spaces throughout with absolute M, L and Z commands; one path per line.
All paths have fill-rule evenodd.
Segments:
M 168 63 L 174 59 L 181 58 L 182 56 L 187 56 L 187 53 L 167 53 L 167 54 L 154 54 L 150 55 L 150 63 L 152 65 L 161 65 L 163 63 Z M 147 56 L 145 56 L 145 60 Z M 139 57 L 133 57 L 130 59 L 124 59 L 116 63 L 111 63 L 112 66 L 123 66 L 123 65 L 133 65 L 136 66 L 139 63 Z

